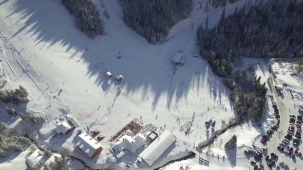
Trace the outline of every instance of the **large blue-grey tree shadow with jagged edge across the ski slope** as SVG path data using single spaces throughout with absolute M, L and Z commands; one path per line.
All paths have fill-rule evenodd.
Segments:
M 53 3 L 52 1 L 41 2 L 33 0 L 25 2 L 17 0 L 9 9 L 11 13 L 8 15 L 20 13 L 20 20 L 26 20 L 22 28 L 11 37 L 20 34 L 23 30 L 28 30 L 25 34 L 36 37 L 35 46 L 48 42 L 50 48 L 59 43 L 60 47 L 67 47 L 66 52 L 74 50 L 70 59 L 77 57 L 80 62 L 87 63 L 87 76 L 96 77 L 95 75 L 97 75 L 98 78 L 96 78 L 95 83 L 101 86 L 104 93 L 109 93 L 107 89 L 112 86 L 111 83 L 108 85 L 104 84 L 108 81 L 108 78 L 104 76 L 104 72 L 110 71 L 114 76 L 122 74 L 125 82 L 121 84 L 121 88 L 127 95 L 141 93 L 143 97 L 140 100 L 144 101 L 147 99 L 149 92 L 155 94 L 154 98 L 149 98 L 149 102 L 154 102 L 152 106 L 154 110 L 162 93 L 172 94 L 172 91 L 182 91 L 179 83 L 172 83 L 171 90 L 167 92 L 170 81 L 168 75 L 172 75 L 172 72 L 168 72 L 168 70 L 173 67 L 171 59 L 178 49 L 191 49 L 191 47 L 181 47 L 183 44 L 178 44 L 178 42 L 182 42 L 183 37 L 178 36 L 170 43 L 155 46 L 148 44 L 144 38 L 125 26 L 121 19 L 123 16 L 121 9 L 115 8 L 119 5 L 118 2 L 109 1 L 105 3 L 110 19 L 104 19 L 102 14 L 100 16 L 104 20 L 107 33 L 110 36 L 105 35 L 89 39 L 75 27 L 73 17 L 61 5 L 60 1 L 57 0 Z M 109 5 L 109 3 L 111 4 Z M 100 5 L 97 4 L 97 6 L 99 7 Z M 102 13 L 102 10 L 100 10 L 100 13 Z M 87 50 L 85 45 L 87 45 Z M 76 55 L 78 52 L 82 53 L 82 55 Z M 117 56 L 120 54 L 121 58 L 118 59 Z M 184 54 L 184 59 L 187 60 L 186 63 L 192 58 L 190 52 Z M 192 69 L 192 66 L 186 65 L 186 63 L 183 67 L 187 68 L 187 70 L 188 68 Z M 199 70 L 192 69 L 192 72 L 187 72 L 189 75 L 183 75 L 186 77 L 182 87 L 183 91 L 188 90 L 191 82 L 195 81 L 195 71 L 202 72 L 202 68 L 205 70 L 202 78 L 200 77 L 201 81 L 205 82 L 205 77 L 209 77 L 211 81 L 210 91 L 215 90 L 218 97 L 221 98 L 221 93 L 225 91 L 221 92 L 223 88 L 222 81 L 219 77 L 213 76 L 209 65 L 203 60 Z M 179 69 L 182 70 L 182 67 Z M 201 82 L 199 81 L 199 83 Z M 141 91 L 142 88 L 143 91 Z M 172 95 L 168 96 L 168 101 L 171 101 L 171 99 Z M 215 100 L 216 98 L 214 98 Z

